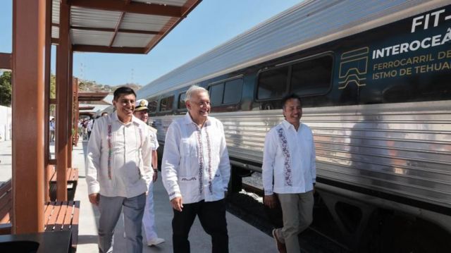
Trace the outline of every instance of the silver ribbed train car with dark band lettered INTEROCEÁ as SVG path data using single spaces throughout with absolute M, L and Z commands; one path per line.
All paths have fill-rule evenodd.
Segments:
M 316 199 L 350 249 L 450 250 L 450 4 L 304 1 L 137 97 L 149 100 L 163 145 L 186 113 L 184 92 L 206 87 L 239 187 L 240 175 L 261 171 L 266 132 L 283 120 L 280 97 L 295 92 L 314 132 Z M 397 239 L 399 251 L 387 246 Z

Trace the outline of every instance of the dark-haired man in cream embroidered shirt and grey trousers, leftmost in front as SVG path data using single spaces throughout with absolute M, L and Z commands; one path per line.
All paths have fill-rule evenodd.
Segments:
M 135 92 L 114 92 L 115 113 L 94 124 L 87 144 L 89 202 L 99 206 L 99 252 L 113 251 L 114 227 L 123 210 L 127 252 L 142 252 L 142 215 L 152 179 L 150 130 L 133 116 Z

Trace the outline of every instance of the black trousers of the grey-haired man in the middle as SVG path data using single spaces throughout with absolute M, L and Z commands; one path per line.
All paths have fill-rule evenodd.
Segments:
M 213 253 L 228 253 L 228 234 L 226 221 L 226 202 L 224 199 L 215 202 L 183 204 L 182 211 L 174 211 L 172 220 L 172 240 L 174 253 L 189 253 L 188 234 L 196 215 L 205 232 L 211 236 Z

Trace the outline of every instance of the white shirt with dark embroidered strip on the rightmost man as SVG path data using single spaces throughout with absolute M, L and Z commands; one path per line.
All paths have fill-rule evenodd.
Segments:
M 313 190 L 315 156 L 313 134 L 307 125 L 301 123 L 296 131 L 283 121 L 271 128 L 265 138 L 261 168 L 265 195 Z

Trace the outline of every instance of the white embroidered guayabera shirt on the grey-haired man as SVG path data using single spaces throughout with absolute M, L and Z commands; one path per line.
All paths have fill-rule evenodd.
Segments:
M 169 125 L 164 142 L 161 177 L 169 199 L 183 204 L 224 198 L 230 161 L 223 124 L 208 117 L 199 128 L 189 113 Z

